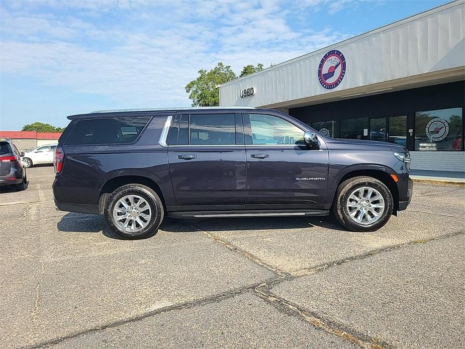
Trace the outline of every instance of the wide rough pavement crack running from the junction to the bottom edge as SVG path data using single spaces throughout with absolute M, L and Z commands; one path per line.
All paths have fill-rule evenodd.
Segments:
M 356 333 L 354 330 L 345 328 L 343 325 L 337 324 L 334 321 L 324 319 L 316 313 L 300 308 L 298 305 L 273 294 L 270 291 L 270 285 L 261 285 L 255 288 L 253 291 L 258 297 L 260 297 L 267 303 L 272 304 L 278 310 L 281 310 L 288 315 L 297 315 L 302 320 L 304 320 L 307 323 L 310 323 L 317 329 L 321 329 L 327 333 L 341 337 L 345 340 L 359 345 L 362 348 L 387 349 L 392 347 L 392 345 L 383 342 L 380 339 L 368 338 L 360 333 Z

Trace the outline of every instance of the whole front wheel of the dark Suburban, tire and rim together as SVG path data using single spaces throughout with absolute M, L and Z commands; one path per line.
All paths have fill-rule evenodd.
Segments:
M 375 231 L 392 215 L 394 200 L 386 185 L 373 177 L 354 177 L 337 189 L 333 212 L 352 231 Z

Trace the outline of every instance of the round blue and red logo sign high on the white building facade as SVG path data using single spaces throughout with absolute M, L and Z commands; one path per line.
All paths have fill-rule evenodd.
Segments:
M 318 80 L 328 90 L 337 87 L 345 74 L 345 57 L 341 51 L 327 52 L 318 66 Z

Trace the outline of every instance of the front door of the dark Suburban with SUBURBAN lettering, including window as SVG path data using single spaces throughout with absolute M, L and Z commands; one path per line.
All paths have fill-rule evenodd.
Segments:
M 322 208 L 328 151 L 303 142 L 304 129 L 285 115 L 244 113 L 247 204 L 256 209 Z

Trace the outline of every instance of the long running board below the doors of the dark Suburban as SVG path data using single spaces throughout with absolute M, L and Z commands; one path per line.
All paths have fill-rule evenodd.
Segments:
M 329 210 L 243 210 L 243 211 L 182 211 L 168 212 L 171 218 L 237 218 L 281 216 L 328 216 Z

